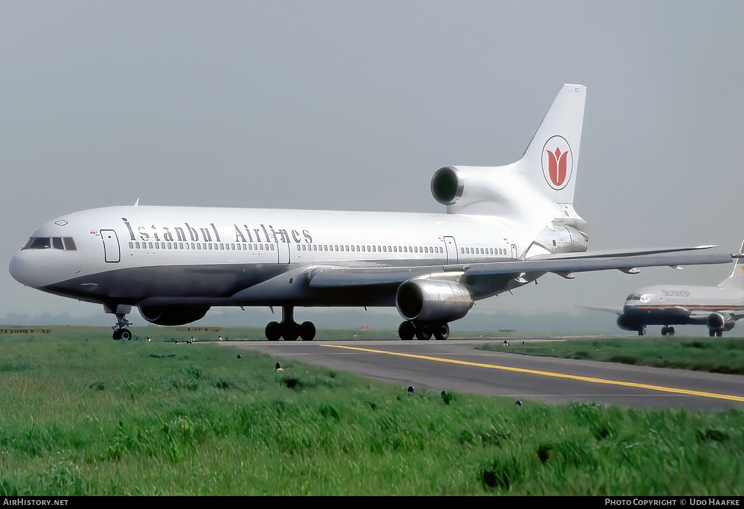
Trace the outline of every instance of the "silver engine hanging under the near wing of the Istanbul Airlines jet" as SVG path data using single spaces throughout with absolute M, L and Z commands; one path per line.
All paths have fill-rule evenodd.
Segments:
M 470 292 L 459 283 L 440 279 L 409 279 L 398 286 L 395 307 L 406 320 L 452 321 L 472 307 Z

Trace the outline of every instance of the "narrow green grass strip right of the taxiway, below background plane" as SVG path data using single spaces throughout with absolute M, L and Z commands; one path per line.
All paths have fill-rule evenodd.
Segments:
M 487 343 L 481 350 L 744 374 L 743 338 L 603 338 Z

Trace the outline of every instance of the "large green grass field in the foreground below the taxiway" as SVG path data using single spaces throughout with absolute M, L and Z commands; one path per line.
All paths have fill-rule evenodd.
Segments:
M 51 328 L 0 335 L 1 495 L 744 492 L 733 409 L 408 394 L 168 329 Z

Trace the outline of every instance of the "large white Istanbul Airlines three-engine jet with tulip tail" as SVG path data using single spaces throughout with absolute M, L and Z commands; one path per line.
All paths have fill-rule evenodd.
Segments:
M 199 320 L 213 306 L 280 307 L 272 341 L 312 340 L 295 307 L 396 307 L 401 339 L 447 339 L 475 301 L 548 272 L 728 263 L 697 246 L 587 252 L 574 188 L 586 87 L 564 85 L 519 161 L 434 173 L 446 214 L 118 206 L 36 228 L 10 274 L 44 292 L 103 304 L 114 339 L 132 307 L 154 324 Z

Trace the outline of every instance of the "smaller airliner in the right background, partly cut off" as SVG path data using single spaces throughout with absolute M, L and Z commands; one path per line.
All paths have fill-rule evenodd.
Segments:
M 674 336 L 674 325 L 705 325 L 708 335 L 723 336 L 744 318 L 744 243 L 735 255 L 734 272 L 718 286 L 660 284 L 626 298 L 618 327 L 645 336 L 647 325 L 661 325 L 661 336 Z

